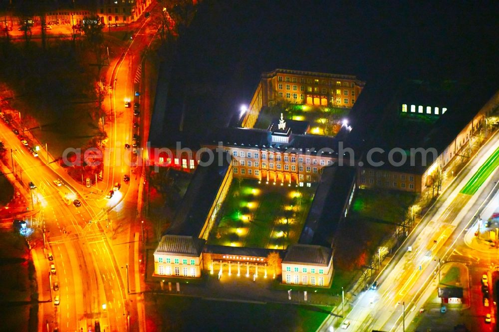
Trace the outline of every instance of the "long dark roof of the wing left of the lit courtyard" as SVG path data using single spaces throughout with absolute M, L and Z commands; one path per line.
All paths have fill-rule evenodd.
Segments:
M 223 153 L 221 165 L 218 165 L 218 154 L 215 156 L 215 160 L 210 165 L 199 165 L 196 168 L 172 225 L 166 234 L 193 237 L 201 235 L 208 212 L 230 166 L 227 153 Z M 201 160 L 207 162 L 208 157 L 208 154 L 204 153 Z

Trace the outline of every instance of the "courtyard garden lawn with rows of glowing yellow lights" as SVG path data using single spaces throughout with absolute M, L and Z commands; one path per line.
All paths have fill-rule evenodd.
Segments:
M 279 249 L 296 243 L 314 190 L 234 179 L 208 243 Z M 297 191 L 299 198 L 293 196 Z

